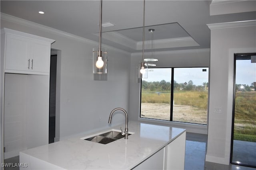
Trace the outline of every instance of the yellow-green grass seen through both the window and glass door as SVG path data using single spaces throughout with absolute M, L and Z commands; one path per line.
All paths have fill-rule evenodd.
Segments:
M 170 104 L 170 91 L 142 90 L 142 103 Z M 208 109 L 208 91 L 174 91 L 174 104 Z M 234 139 L 256 142 L 256 92 L 236 92 Z

